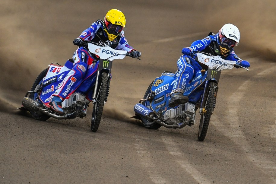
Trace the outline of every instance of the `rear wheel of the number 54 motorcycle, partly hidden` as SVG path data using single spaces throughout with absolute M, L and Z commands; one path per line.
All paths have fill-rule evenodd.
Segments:
M 33 91 L 36 86 L 38 84 L 41 84 L 42 81 L 43 81 L 43 78 L 46 76 L 47 74 L 47 71 L 48 71 L 49 68 L 46 68 L 45 70 L 43 70 L 36 78 L 36 80 L 34 81 L 33 83 L 33 86 L 32 86 L 32 89 L 31 91 Z M 38 96 L 40 94 L 40 91 L 38 93 L 31 93 L 29 95 L 29 98 L 33 99 L 33 100 L 36 100 L 38 99 Z M 47 116 L 46 114 L 38 114 L 36 113 L 35 111 L 29 111 L 30 112 L 30 115 L 32 116 L 33 119 L 36 119 L 36 120 L 41 120 L 41 121 L 46 121 L 47 119 L 50 118 L 50 116 Z

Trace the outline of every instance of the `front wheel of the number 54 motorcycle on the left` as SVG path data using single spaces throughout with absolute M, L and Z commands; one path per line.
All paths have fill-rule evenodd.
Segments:
M 103 113 L 103 105 L 105 103 L 107 87 L 108 87 L 107 81 L 108 81 L 108 75 L 107 73 L 103 72 L 101 74 L 101 77 L 98 83 L 99 86 L 97 89 L 96 102 L 93 105 L 93 113 L 92 113 L 92 120 L 91 120 L 92 132 L 97 132 L 100 125 L 100 121 Z

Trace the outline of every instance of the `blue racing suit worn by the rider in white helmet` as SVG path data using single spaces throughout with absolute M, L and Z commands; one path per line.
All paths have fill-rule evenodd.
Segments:
M 190 47 L 191 50 L 198 50 L 205 53 L 212 54 L 213 56 L 221 56 L 223 59 L 232 61 L 242 61 L 234 52 L 232 48 L 226 55 L 220 54 L 220 47 L 217 43 L 217 34 L 210 33 L 207 37 L 202 40 L 197 40 L 192 43 Z M 173 90 L 171 93 L 184 93 L 186 83 L 189 83 L 198 71 L 202 68 L 191 56 L 182 55 L 177 61 L 178 72 L 176 73 L 176 80 L 173 85 Z

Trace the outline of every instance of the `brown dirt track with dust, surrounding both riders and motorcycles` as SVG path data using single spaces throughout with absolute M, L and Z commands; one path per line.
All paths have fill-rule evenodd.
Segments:
M 0 183 L 276 183 L 276 3 L 222 3 L 1 1 Z M 114 62 L 98 131 L 91 115 L 42 122 L 18 112 L 36 76 L 71 58 L 74 38 L 112 8 L 142 56 Z M 150 130 L 129 118 L 183 47 L 226 23 L 239 27 L 235 51 L 251 66 L 222 71 L 205 141 L 198 122 Z

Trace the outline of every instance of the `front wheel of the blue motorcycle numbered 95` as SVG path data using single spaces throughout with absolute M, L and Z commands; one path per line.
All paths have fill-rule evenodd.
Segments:
M 201 118 L 200 118 L 199 129 L 198 129 L 199 141 L 204 141 L 205 136 L 207 134 L 210 118 L 216 104 L 215 94 L 216 94 L 216 83 L 210 82 L 208 91 L 207 91 L 206 100 L 204 103 L 204 108 L 201 111 Z

